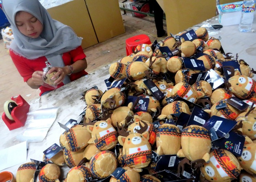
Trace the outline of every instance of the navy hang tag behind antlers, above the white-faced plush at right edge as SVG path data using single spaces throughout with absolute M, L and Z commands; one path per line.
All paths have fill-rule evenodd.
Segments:
M 223 61 L 222 62 L 222 69 L 224 72 L 225 80 L 228 81 L 231 76 L 231 70 L 233 71 L 239 71 L 239 74 L 241 74 L 240 65 L 237 60 L 231 60 L 231 61 Z

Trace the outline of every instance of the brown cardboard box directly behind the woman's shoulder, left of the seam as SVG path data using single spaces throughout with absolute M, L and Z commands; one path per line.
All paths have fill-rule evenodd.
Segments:
M 84 0 L 73 0 L 47 11 L 53 19 L 70 26 L 83 38 L 83 49 L 98 43 Z

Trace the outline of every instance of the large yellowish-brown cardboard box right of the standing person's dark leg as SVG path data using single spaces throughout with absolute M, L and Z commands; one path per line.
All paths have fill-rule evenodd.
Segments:
M 213 0 L 157 0 L 166 14 L 168 35 L 216 16 L 216 1 Z

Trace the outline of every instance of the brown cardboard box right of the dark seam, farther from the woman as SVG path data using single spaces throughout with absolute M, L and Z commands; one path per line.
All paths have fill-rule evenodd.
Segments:
M 85 0 L 98 42 L 125 32 L 117 0 Z M 79 9 L 79 6 L 77 6 Z

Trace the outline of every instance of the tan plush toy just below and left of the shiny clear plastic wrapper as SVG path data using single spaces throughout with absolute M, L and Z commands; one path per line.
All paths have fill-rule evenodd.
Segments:
M 204 80 L 200 80 L 192 85 L 192 87 L 196 90 L 198 99 L 202 97 L 210 97 L 212 94 L 211 85 Z

